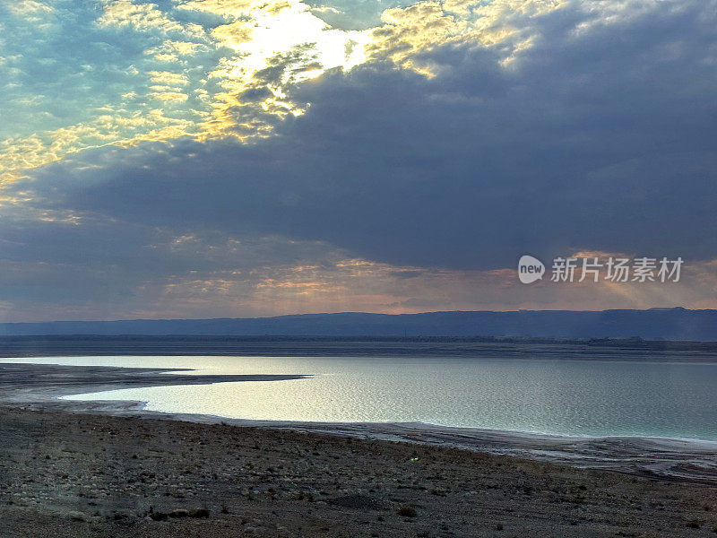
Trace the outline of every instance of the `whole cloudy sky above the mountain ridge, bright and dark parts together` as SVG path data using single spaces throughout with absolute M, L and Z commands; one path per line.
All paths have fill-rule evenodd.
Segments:
M 0 321 L 717 308 L 715 94 L 717 0 L 0 0 Z

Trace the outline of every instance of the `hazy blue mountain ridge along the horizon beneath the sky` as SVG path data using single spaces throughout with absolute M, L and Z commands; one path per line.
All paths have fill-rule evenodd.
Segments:
M 717 310 L 517 310 L 3 323 L 0 335 L 505 336 L 717 341 Z

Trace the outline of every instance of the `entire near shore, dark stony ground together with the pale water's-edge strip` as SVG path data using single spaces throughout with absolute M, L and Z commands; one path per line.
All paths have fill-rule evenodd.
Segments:
M 212 382 L 159 369 L 0 365 L 0 535 L 717 532 L 709 444 L 232 422 L 142 412 L 139 403 L 56 400 L 198 381 Z

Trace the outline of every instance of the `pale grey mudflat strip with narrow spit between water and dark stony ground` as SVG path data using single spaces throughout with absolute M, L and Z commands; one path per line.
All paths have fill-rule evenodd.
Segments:
M 172 374 L 170 372 L 183 372 Z M 661 481 L 717 484 L 717 441 L 644 436 L 576 437 L 514 430 L 438 426 L 422 422 L 306 422 L 231 419 L 217 415 L 157 412 L 146 403 L 71 400 L 67 396 L 140 386 L 177 386 L 226 381 L 284 380 L 306 375 L 201 375 L 186 369 L 75 367 L 0 363 L 0 405 L 27 410 L 92 413 L 116 417 L 229 424 L 320 435 L 403 441 L 453 447 L 496 456 L 643 476 Z

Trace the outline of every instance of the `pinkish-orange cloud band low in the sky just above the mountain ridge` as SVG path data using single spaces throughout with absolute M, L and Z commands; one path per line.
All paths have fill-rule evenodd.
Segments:
M 270 242 L 275 239 L 269 239 Z M 261 243 L 261 241 L 260 241 Z M 276 244 L 276 243 L 274 243 Z M 195 254 L 211 246 L 196 236 L 176 239 L 174 256 L 186 248 Z M 234 241 L 233 254 L 215 245 L 225 262 L 235 261 L 246 248 Z M 263 248 L 255 244 L 251 248 Z M 298 246 L 298 251 L 302 246 Z M 314 251 L 315 247 L 310 247 Z M 186 253 L 186 251 L 185 251 Z M 142 282 L 113 282 L 110 303 L 98 303 L 92 294 L 106 277 L 82 265 L 13 263 L 0 278 L 0 287 L 18 285 L 30 275 L 39 282 L 57 281 L 82 286 L 85 294 L 60 297 L 67 308 L 48 300 L 42 305 L 8 302 L 4 319 L 84 319 L 137 317 L 255 317 L 296 313 L 368 311 L 385 314 L 436 310 L 517 310 L 661 308 L 689 304 L 691 308 L 717 308 L 717 260 L 687 267 L 683 282 L 537 282 L 526 286 L 514 268 L 492 271 L 455 271 L 379 264 L 360 258 L 341 258 L 325 250 L 320 263 L 316 252 L 298 264 L 239 263 L 235 268 L 188 270 L 168 275 L 147 275 Z M 230 262 L 229 262 L 230 264 Z M 129 286 L 129 287 L 125 287 Z M 707 293 L 705 291 L 712 291 Z M 109 308 L 109 309 L 107 309 Z M 0 312 L 0 318 L 3 314 Z

